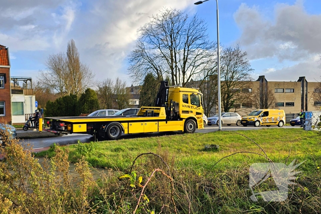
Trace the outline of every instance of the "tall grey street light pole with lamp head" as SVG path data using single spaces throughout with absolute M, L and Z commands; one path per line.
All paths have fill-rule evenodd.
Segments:
M 209 0 L 199 1 L 194 4 L 202 4 L 203 2 L 207 2 Z M 219 37 L 219 3 L 216 0 L 216 27 L 217 27 L 217 95 L 218 95 L 218 124 L 219 131 L 222 130 L 221 124 L 221 72 L 220 72 L 220 37 Z

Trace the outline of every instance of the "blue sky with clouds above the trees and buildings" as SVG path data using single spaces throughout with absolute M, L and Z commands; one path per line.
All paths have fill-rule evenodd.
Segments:
M 195 0 L 196 1 L 196 0 Z M 126 56 L 137 29 L 164 6 L 197 13 L 216 41 L 216 2 L 191 0 L 12 0 L 0 5 L 0 44 L 9 47 L 12 76 L 41 78 L 50 54 L 65 52 L 74 39 L 81 60 L 96 79 L 130 80 Z M 219 0 L 220 42 L 248 52 L 253 78 L 270 81 L 320 79 L 321 1 Z

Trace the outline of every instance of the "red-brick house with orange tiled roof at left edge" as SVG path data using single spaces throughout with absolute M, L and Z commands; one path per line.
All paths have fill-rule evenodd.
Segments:
M 0 45 L 0 123 L 11 124 L 11 86 L 9 49 Z

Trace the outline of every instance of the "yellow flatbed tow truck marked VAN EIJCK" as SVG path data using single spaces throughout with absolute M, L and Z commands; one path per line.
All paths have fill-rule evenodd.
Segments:
M 55 134 L 91 134 L 116 140 L 124 134 L 203 129 L 203 94 L 199 89 L 168 86 L 161 81 L 154 107 L 141 107 L 134 116 L 46 117 Z

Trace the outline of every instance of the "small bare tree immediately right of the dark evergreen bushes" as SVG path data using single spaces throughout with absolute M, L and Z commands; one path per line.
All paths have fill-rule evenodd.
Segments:
M 100 81 L 100 83 L 98 84 L 97 97 L 99 101 L 99 106 L 101 108 L 105 108 L 105 109 L 113 108 L 113 102 L 114 102 L 113 88 L 114 88 L 114 82 L 109 78 Z

